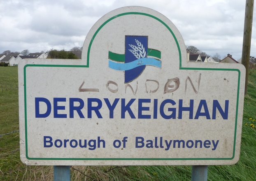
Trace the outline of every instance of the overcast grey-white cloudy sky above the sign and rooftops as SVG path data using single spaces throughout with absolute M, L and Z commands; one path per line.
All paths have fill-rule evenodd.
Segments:
M 104 14 L 124 6 L 144 6 L 165 15 L 192 45 L 221 59 L 242 56 L 245 0 L 0 0 L 0 53 L 70 50 Z M 256 8 L 251 56 L 256 57 Z

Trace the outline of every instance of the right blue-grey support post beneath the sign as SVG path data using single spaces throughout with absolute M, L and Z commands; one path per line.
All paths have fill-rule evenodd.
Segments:
M 191 181 L 207 181 L 208 165 L 193 165 Z

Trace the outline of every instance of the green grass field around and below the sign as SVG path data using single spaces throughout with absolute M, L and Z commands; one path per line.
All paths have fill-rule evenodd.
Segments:
M 256 180 L 256 70 L 250 70 L 240 160 L 208 167 L 208 181 Z M 0 180 L 53 180 L 52 166 L 26 166 L 19 159 L 17 67 L 0 67 Z M 5 135 L 6 134 L 6 135 Z M 191 166 L 72 166 L 72 181 L 190 181 Z

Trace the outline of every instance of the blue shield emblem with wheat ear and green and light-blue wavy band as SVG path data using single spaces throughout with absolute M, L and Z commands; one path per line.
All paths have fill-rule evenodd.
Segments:
M 154 57 L 154 58 L 148 58 Z M 161 52 L 148 48 L 147 36 L 126 36 L 125 54 L 109 51 L 109 68 L 124 71 L 124 83 L 136 79 L 147 65 L 161 68 Z

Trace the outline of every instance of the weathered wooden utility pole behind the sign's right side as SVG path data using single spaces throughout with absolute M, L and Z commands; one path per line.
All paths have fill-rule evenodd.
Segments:
M 242 64 L 246 69 L 244 95 L 247 94 L 247 85 L 248 85 L 253 12 L 254 12 L 254 0 L 246 0 L 245 16 L 244 16 L 244 39 L 243 39 L 243 49 L 242 49 Z

